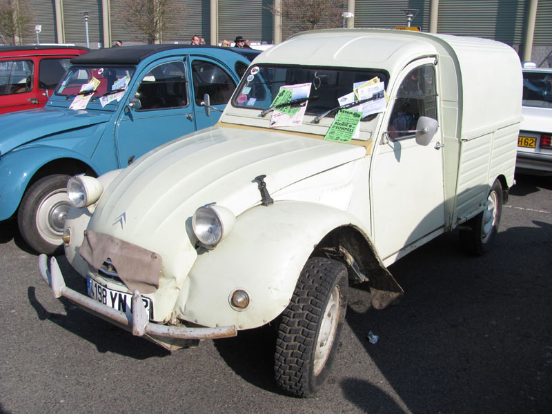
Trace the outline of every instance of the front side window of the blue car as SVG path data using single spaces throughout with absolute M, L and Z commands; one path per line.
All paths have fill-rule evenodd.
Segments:
M 140 82 L 135 97 L 140 110 L 182 108 L 188 105 L 184 62 L 161 63 Z

